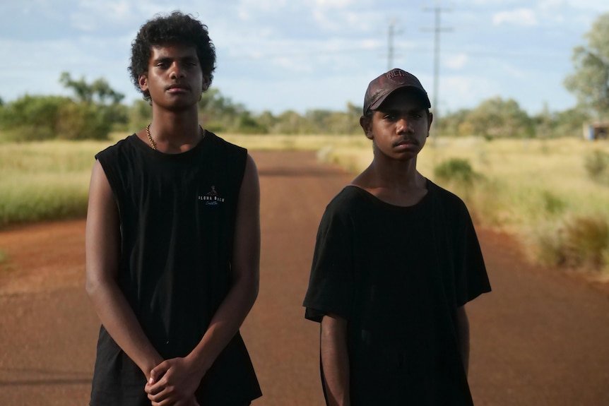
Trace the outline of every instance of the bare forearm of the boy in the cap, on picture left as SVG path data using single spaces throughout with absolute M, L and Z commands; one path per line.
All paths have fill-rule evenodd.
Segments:
M 330 406 L 349 406 L 347 321 L 334 314 L 321 319 L 321 365 Z

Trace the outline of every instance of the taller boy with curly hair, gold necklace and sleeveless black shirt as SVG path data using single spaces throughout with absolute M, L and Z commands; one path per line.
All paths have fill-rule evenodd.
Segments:
M 180 12 L 141 27 L 145 129 L 95 155 L 86 290 L 100 317 L 90 405 L 243 406 L 261 396 L 239 329 L 258 294 L 259 179 L 199 124 L 215 49 Z

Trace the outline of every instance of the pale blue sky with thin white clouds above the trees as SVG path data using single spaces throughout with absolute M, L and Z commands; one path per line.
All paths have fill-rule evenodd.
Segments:
M 208 26 L 212 86 L 254 113 L 361 106 L 369 81 L 398 67 L 418 76 L 436 114 L 497 96 L 536 114 L 576 105 L 563 85 L 574 73 L 572 52 L 609 2 L 3 0 L 0 98 L 67 95 L 59 83 L 67 71 L 105 78 L 124 102 L 138 100 L 126 69 L 131 41 L 146 20 L 173 10 Z

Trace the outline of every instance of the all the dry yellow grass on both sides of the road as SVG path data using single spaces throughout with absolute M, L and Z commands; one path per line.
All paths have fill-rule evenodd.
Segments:
M 110 141 L 0 144 L 0 227 L 85 215 L 95 153 L 127 135 L 115 133 Z M 372 161 L 370 141 L 363 135 L 220 136 L 250 150 L 316 150 L 320 160 L 338 163 L 350 172 L 360 172 Z M 418 168 L 459 194 L 480 224 L 519 237 L 534 261 L 557 263 L 557 252 L 564 248 L 557 245 L 557 236 L 568 225 L 581 219 L 609 219 L 609 186 L 586 170 L 586 160 L 595 151 L 609 153 L 609 143 L 437 138 L 430 139 L 420 153 Z M 455 158 L 466 160 L 480 175 L 468 190 L 434 179 L 434 169 Z M 583 229 L 593 233 L 594 227 Z M 609 248 L 601 257 L 607 268 Z

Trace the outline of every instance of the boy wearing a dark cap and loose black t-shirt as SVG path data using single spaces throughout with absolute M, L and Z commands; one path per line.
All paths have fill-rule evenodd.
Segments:
M 374 158 L 321 219 L 304 306 L 328 405 L 473 404 L 465 304 L 490 284 L 466 206 L 417 170 L 430 107 L 401 69 L 369 83 Z

